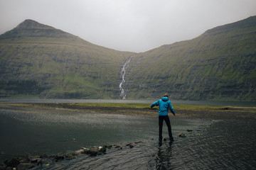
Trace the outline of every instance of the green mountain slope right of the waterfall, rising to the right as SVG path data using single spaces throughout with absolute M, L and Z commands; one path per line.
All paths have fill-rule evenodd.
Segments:
M 256 16 L 132 57 L 129 98 L 256 101 Z

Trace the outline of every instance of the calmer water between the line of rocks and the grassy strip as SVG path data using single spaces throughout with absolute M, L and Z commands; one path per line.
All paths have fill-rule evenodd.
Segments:
M 156 113 L 157 115 L 157 113 Z M 210 121 L 171 118 L 173 132 Z M 85 113 L 55 108 L 0 106 L 0 158 L 71 152 L 81 147 L 149 140 L 158 135 L 158 118 Z M 164 135 L 167 128 L 164 125 Z

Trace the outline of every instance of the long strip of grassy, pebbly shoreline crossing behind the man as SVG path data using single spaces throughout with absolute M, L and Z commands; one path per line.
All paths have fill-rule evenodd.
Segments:
M 142 104 L 139 107 L 122 106 L 114 103 L 99 105 L 95 103 L 0 103 L 0 106 L 16 106 L 28 108 L 56 108 L 70 109 L 73 111 L 85 111 L 89 113 L 134 115 L 134 116 L 157 116 L 158 107 L 149 108 L 150 104 Z M 110 105 L 110 106 L 108 106 Z M 232 118 L 256 118 L 256 107 L 235 107 L 235 106 L 174 106 L 177 118 L 202 118 L 202 119 L 232 119 Z M 169 111 L 169 116 L 172 113 Z

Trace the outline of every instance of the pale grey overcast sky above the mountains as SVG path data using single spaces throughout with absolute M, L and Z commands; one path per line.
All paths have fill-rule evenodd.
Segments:
M 144 52 L 256 16 L 256 0 L 0 0 L 0 34 L 26 19 L 114 50 Z

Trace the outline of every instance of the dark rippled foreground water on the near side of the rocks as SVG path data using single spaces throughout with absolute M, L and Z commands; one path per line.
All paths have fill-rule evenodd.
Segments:
M 174 143 L 149 140 L 35 169 L 256 169 L 255 120 L 223 120 Z

